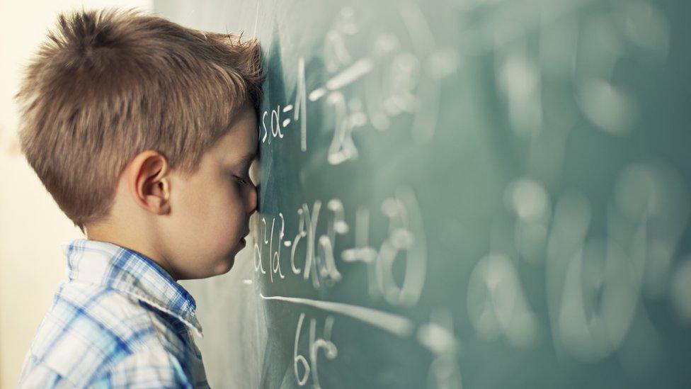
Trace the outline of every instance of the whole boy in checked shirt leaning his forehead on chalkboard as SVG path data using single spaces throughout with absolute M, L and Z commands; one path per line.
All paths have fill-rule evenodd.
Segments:
M 207 387 L 176 281 L 224 274 L 256 187 L 260 48 L 138 11 L 79 11 L 28 66 L 16 98 L 29 164 L 86 239 L 20 387 Z

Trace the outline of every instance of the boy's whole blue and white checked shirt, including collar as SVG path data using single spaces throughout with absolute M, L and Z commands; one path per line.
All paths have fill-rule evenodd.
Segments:
M 208 388 L 194 298 L 147 256 L 62 244 L 62 281 L 24 359 L 20 388 Z

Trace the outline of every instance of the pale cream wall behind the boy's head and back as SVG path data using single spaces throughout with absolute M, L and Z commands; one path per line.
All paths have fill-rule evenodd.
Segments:
M 31 339 L 65 276 L 59 244 L 82 237 L 20 154 L 12 96 L 23 66 L 58 13 L 107 6 L 149 10 L 149 0 L 0 3 L 0 388 L 13 388 Z

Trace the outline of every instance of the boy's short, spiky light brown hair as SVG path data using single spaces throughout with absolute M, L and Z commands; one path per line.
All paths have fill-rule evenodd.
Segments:
M 21 151 L 59 208 L 84 225 L 110 213 L 140 152 L 193 173 L 241 107 L 261 104 L 261 48 L 136 9 L 58 16 L 15 98 Z

